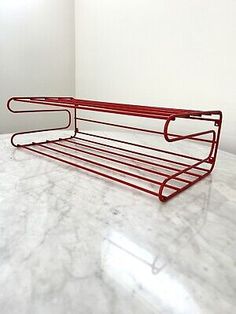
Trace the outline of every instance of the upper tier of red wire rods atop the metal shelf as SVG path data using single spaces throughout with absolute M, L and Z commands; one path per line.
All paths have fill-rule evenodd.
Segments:
M 175 117 L 190 117 L 217 114 L 218 111 L 201 111 L 189 109 L 164 108 L 144 105 L 119 104 L 103 101 L 76 99 L 72 97 L 13 97 L 11 100 L 39 105 L 76 108 L 82 110 L 125 114 L 130 116 L 174 119 Z

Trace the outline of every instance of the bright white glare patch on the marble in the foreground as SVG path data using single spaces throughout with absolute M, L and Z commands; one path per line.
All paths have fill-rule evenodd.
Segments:
M 116 232 L 105 240 L 103 254 L 104 273 L 153 310 L 162 306 L 173 313 L 198 312 L 191 294 L 165 270 L 167 263 L 160 256 L 156 259 Z

